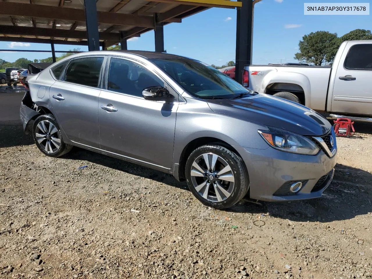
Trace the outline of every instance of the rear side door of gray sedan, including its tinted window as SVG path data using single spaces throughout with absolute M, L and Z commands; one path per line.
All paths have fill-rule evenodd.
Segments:
M 98 96 L 105 59 L 96 55 L 70 60 L 49 91 L 55 116 L 67 137 L 96 148 L 99 147 Z

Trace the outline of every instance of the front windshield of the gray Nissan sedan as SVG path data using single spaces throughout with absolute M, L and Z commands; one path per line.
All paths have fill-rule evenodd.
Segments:
M 242 93 L 253 93 L 221 71 L 199 61 L 170 58 L 153 59 L 152 62 L 188 93 L 202 99 L 232 99 Z

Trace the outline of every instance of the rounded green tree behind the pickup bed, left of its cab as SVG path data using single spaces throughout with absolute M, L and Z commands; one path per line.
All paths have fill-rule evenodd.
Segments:
M 295 59 L 301 62 L 321 66 L 324 62 L 331 62 L 334 58 L 334 48 L 337 46 L 337 33 L 328 31 L 311 32 L 299 41 L 299 52 Z

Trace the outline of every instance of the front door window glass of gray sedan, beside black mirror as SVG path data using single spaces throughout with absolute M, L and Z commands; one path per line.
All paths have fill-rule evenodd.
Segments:
M 142 96 L 142 91 L 151 86 L 162 86 L 157 76 L 145 67 L 119 58 L 111 58 L 108 89 L 133 96 Z

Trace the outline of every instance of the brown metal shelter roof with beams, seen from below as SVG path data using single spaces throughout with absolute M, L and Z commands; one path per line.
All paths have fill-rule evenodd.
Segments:
M 106 46 L 211 7 L 241 7 L 229 0 L 96 0 L 100 41 Z M 84 1 L 0 0 L 0 41 L 86 44 Z

